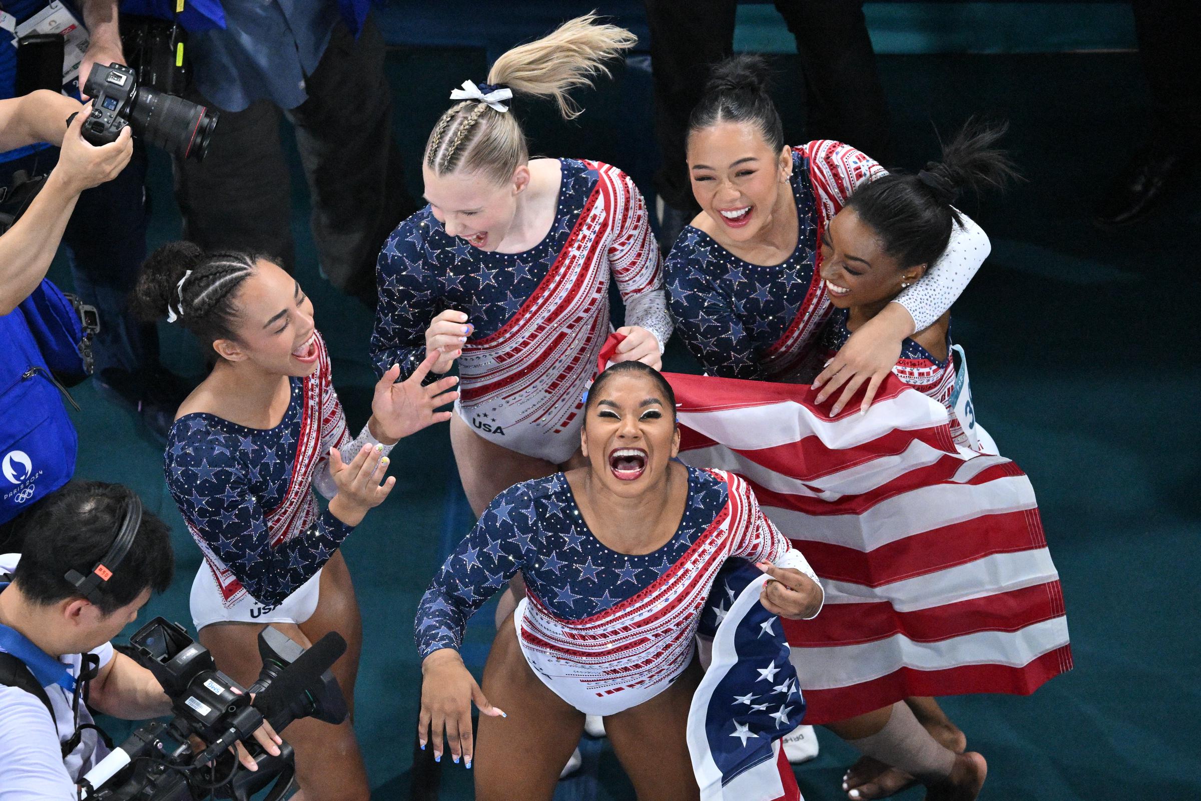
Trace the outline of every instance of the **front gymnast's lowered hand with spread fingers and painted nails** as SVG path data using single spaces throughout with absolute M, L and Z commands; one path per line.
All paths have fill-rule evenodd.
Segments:
M 454 648 L 438 648 L 422 662 L 422 715 L 417 721 L 417 740 L 425 749 L 434 743 L 434 761 L 442 760 L 442 737 L 450 745 L 455 764 L 464 759 L 471 767 L 474 739 L 471 730 L 471 703 L 480 715 L 507 718 L 492 706 Z

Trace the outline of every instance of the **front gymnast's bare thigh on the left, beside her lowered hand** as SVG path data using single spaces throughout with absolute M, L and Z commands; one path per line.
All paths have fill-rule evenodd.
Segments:
M 550 801 L 558 772 L 584 733 L 584 713 L 533 675 L 512 616 L 492 641 L 480 689 L 508 717 L 479 716 L 473 767 L 477 801 Z

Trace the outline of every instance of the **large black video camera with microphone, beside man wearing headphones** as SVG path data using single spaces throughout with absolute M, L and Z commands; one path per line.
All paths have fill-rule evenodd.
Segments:
M 263 670 L 243 688 L 213 664 L 208 650 L 178 623 L 156 617 L 121 651 L 150 670 L 172 700 L 171 721 L 137 729 L 80 783 L 94 801 L 199 801 L 249 799 L 274 782 L 265 801 L 277 801 L 295 778 L 292 747 L 273 757 L 251 737 L 263 721 L 276 731 L 303 717 L 346 719 L 346 699 L 329 666 L 346 651 L 330 633 L 309 650 L 268 626 L 258 635 Z M 255 693 L 253 704 L 250 694 Z M 193 740 L 208 747 L 196 752 Z M 247 743 L 257 771 L 241 766 L 229 747 Z

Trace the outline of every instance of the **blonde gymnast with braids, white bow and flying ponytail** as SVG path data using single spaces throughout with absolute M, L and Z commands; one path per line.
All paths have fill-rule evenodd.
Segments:
M 464 82 L 425 147 L 429 205 L 380 253 L 372 361 L 401 378 L 426 355 L 434 373 L 459 365 L 450 442 L 476 514 L 579 460 L 581 395 L 613 330 L 610 276 L 625 301 L 616 360 L 661 366 L 671 321 L 641 195 L 605 163 L 530 159 L 509 109 L 543 97 L 578 116 L 570 90 L 634 42 L 587 14 L 501 55 L 486 83 Z

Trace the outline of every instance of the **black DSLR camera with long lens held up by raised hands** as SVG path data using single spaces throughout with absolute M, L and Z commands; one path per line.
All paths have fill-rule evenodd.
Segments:
M 83 138 L 115 142 L 126 125 L 133 133 L 180 159 L 204 159 L 219 114 L 183 97 L 139 86 L 137 73 L 120 64 L 92 65 L 83 94 L 92 98 Z

